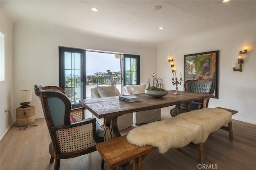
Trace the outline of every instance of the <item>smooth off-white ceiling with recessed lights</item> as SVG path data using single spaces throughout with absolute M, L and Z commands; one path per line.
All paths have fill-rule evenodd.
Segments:
M 155 10 L 155 6 L 162 8 Z M 98 8 L 98 12 L 90 10 L 92 7 Z M 156 44 L 255 20 L 256 1 L 1 0 L 1 10 L 14 21 L 49 22 L 90 34 Z

